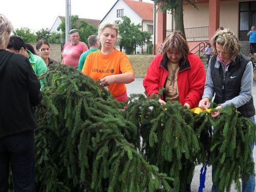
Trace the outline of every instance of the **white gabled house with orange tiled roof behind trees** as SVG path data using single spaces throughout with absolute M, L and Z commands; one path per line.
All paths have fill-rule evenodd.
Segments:
M 117 0 L 108 13 L 102 18 L 100 24 L 121 20 L 122 16 L 127 16 L 135 25 L 140 24 L 142 31 L 152 34 L 151 43 L 154 42 L 154 4 L 146 3 L 142 0 Z M 139 53 L 147 51 L 147 46 L 136 49 Z

